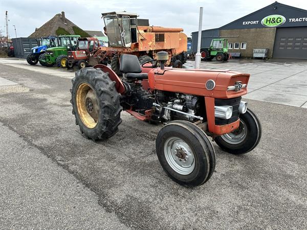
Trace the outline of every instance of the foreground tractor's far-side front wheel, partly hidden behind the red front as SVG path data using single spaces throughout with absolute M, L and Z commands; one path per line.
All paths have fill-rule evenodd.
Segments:
M 239 128 L 231 133 L 215 137 L 214 141 L 224 151 L 232 154 L 243 154 L 252 151 L 261 139 L 261 124 L 250 110 L 240 114 Z

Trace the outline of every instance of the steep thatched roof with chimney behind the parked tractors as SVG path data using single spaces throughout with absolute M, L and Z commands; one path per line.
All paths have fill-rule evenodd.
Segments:
M 62 11 L 61 14 L 56 14 L 40 28 L 35 29 L 35 32 L 32 33 L 29 38 L 70 34 L 80 35 L 81 37 L 90 37 L 88 33 L 76 26 L 69 19 L 65 18 L 65 13 Z

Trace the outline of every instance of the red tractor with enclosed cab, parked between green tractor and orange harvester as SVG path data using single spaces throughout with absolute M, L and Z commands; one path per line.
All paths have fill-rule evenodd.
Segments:
M 96 37 L 81 37 L 78 38 L 77 50 L 67 52 L 66 67 L 72 68 L 76 63 L 79 68 L 84 68 L 90 63 L 91 57 L 98 51 L 100 47 L 99 40 Z M 94 58 L 95 64 L 98 64 L 96 58 Z

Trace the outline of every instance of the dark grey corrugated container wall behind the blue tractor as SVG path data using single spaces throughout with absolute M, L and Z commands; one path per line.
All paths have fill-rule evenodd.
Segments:
M 14 55 L 17 58 L 27 58 L 31 48 L 36 47 L 37 41 L 35 38 L 18 37 L 12 38 Z

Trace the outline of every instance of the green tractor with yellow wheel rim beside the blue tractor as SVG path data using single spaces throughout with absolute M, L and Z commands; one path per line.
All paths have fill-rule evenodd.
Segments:
M 77 40 L 80 35 L 62 35 L 58 36 L 58 47 L 48 48 L 45 54 L 39 56 L 39 63 L 45 66 L 65 67 L 67 61 L 67 52 L 74 51 L 77 48 Z

